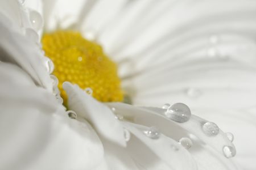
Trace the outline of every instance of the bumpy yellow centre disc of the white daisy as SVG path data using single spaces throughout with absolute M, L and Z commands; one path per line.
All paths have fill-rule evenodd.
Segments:
M 84 39 L 79 32 L 56 31 L 46 33 L 43 50 L 51 58 L 59 79 L 58 87 L 64 103 L 67 96 L 62 88 L 65 81 L 90 88 L 100 101 L 122 101 L 123 92 L 117 75 L 117 65 L 103 52 L 100 45 Z

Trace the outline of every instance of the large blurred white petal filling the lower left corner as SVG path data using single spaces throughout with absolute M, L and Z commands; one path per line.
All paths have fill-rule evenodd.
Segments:
M 19 67 L 0 67 L 0 169 L 80 170 L 102 162 L 102 143 L 88 122 L 70 119 Z

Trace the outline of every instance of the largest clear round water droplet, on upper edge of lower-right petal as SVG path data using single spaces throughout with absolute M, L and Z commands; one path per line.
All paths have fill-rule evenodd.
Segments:
M 191 111 L 189 107 L 183 103 L 175 103 L 164 113 L 166 117 L 173 121 L 184 123 L 191 117 Z

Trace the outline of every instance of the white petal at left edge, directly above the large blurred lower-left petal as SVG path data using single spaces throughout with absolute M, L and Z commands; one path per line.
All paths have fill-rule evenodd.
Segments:
M 18 28 L 13 23 L 6 24 L 5 20 L 8 19 L 0 14 L 0 61 L 18 65 L 37 85 L 52 91 L 43 53 L 34 42 L 16 32 Z

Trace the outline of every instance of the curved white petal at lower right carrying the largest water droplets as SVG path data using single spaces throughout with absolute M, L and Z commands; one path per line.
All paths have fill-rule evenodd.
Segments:
M 127 120 L 144 126 L 156 126 L 164 135 L 179 141 L 182 137 L 189 137 L 195 143 L 189 149 L 192 156 L 196 159 L 199 169 L 236 169 L 234 164 L 225 158 L 222 148 L 225 145 L 233 146 L 226 135 L 220 133 L 214 137 L 209 137 L 203 133 L 202 124 L 206 122 L 199 117 L 192 116 L 191 120 L 183 124 L 176 123 L 162 115 L 163 109 L 141 108 L 136 109 L 130 105 L 121 103 L 108 103 L 115 108 L 115 113 L 121 114 Z M 207 156 L 207 159 L 202 159 Z M 214 164 L 213 167 L 210 167 Z

